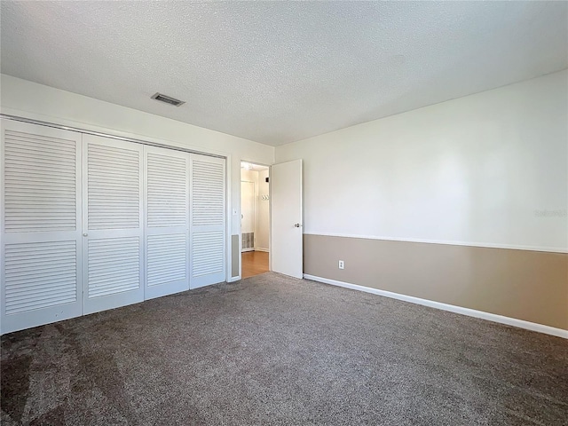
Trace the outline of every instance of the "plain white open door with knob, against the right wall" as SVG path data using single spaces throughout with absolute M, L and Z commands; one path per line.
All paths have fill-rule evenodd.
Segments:
M 274 164 L 270 185 L 272 271 L 303 278 L 302 160 Z

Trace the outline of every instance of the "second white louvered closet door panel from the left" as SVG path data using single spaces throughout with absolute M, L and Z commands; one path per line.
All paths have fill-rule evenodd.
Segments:
M 141 145 L 83 135 L 83 313 L 144 300 Z

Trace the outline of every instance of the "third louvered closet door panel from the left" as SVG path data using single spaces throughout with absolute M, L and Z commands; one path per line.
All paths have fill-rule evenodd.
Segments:
M 189 154 L 144 147 L 146 299 L 189 289 Z

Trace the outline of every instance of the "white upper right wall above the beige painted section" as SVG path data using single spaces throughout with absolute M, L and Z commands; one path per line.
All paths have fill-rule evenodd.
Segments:
M 568 71 L 279 146 L 304 233 L 568 250 Z

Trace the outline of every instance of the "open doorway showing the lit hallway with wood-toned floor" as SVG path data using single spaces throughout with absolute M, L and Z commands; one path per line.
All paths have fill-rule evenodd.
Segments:
M 241 162 L 241 278 L 270 270 L 269 173 L 267 166 Z

